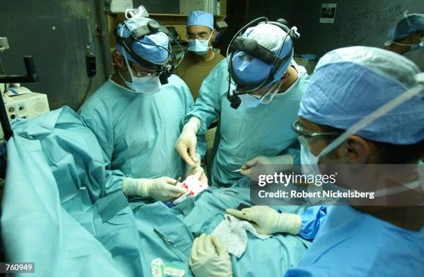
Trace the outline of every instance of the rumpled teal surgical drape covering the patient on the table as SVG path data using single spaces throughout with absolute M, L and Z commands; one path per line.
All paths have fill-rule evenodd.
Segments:
M 14 120 L 12 129 L 1 235 L 6 260 L 35 262 L 29 276 L 152 276 L 150 263 L 161 258 L 191 277 L 193 238 L 212 233 L 226 208 L 250 203 L 247 188 L 205 190 L 174 208 L 127 202 L 119 184 L 105 187 L 109 161 L 69 107 Z M 287 213 L 305 209 L 279 208 Z M 242 258 L 232 257 L 233 271 L 235 276 L 263 276 L 264 271 L 281 276 L 298 265 L 309 245 L 297 235 L 265 241 L 249 235 Z

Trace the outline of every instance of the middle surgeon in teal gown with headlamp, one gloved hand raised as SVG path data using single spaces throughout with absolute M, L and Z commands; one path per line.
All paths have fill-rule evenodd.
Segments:
M 290 126 L 309 82 L 306 69 L 292 60 L 292 39 L 279 26 L 265 23 L 251 26 L 242 37 L 256 40 L 287 60 L 268 78 L 270 64 L 242 51 L 234 53 L 232 74 L 238 80 L 245 84 L 266 82 L 251 94 L 240 95 L 238 109 L 233 109 L 227 99 L 229 86 L 230 91 L 236 88 L 229 82 L 227 60 L 215 66 L 202 83 L 200 97 L 187 115 L 188 123 L 176 148 L 186 163 L 194 164 L 196 134 L 204 134 L 215 118 L 220 118 L 220 137 L 215 136 L 215 140 L 219 139 L 215 141 L 218 148 L 209 166 L 213 186 L 248 186 L 249 178 L 244 175 L 260 164 L 290 167 L 299 163 L 297 139 Z

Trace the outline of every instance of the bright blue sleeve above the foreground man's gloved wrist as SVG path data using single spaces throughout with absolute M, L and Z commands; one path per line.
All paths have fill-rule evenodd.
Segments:
M 313 240 L 319 228 L 326 220 L 327 206 L 311 206 L 301 215 L 302 225 L 299 235 L 306 240 Z

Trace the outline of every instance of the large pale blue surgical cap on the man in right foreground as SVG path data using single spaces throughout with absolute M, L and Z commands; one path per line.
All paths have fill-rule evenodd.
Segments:
M 380 48 L 353 46 L 319 60 L 301 100 L 299 116 L 319 125 L 348 129 L 418 84 L 418 67 Z M 424 139 L 424 98 L 414 96 L 363 127 L 357 135 L 397 145 Z

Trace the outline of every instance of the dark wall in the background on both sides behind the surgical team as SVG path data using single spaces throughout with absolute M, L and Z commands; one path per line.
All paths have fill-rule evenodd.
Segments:
M 181 0 L 184 1 L 184 0 Z M 179 0 L 134 0 L 152 13 L 179 13 Z M 320 24 L 321 3 L 337 3 L 334 24 Z M 0 53 L 8 74 L 24 73 L 23 55 L 33 55 L 39 83 L 26 84 L 46 93 L 51 109 L 69 105 L 77 109 L 89 86 L 85 68 L 87 45 L 94 46 L 97 74 L 89 93 L 111 73 L 107 14 L 104 0 L 0 0 L 0 37 L 10 49 Z M 287 19 L 301 33 L 296 53 L 318 56 L 334 48 L 353 45 L 382 47 L 387 31 L 405 10 L 424 12 L 416 0 L 227 0 L 227 24 L 218 47 L 227 44 L 245 23 L 260 16 Z

